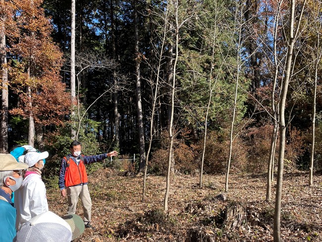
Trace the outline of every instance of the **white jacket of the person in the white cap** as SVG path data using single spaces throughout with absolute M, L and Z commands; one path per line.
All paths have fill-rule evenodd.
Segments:
M 23 180 L 14 192 L 14 207 L 17 209 L 17 230 L 26 221 L 48 211 L 46 187 L 39 174 L 29 174 Z

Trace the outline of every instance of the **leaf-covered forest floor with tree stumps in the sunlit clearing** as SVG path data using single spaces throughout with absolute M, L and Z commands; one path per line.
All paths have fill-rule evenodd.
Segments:
M 89 176 L 92 224 L 75 242 L 269 242 L 273 241 L 276 182 L 271 202 L 265 202 L 266 176 L 231 175 L 227 199 L 216 198 L 224 190 L 225 176 L 176 175 L 171 179 L 168 212 L 163 212 L 165 178 L 148 176 L 145 202 L 143 177 L 124 177 L 110 169 Z M 59 216 L 67 211 L 67 199 L 58 188 L 48 188 L 49 209 Z M 79 202 L 77 214 L 82 216 Z M 322 175 L 308 186 L 308 173 L 284 174 L 281 239 L 283 242 L 322 242 Z

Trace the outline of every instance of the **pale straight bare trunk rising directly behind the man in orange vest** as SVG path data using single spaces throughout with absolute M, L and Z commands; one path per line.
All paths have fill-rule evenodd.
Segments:
M 75 102 L 76 102 L 76 72 L 75 72 L 75 1 L 71 0 L 71 40 L 70 40 L 70 89 L 71 89 L 71 102 L 72 111 L 71 117 L 75 120 Z M 71 130 L 72 139 L 76 137 L 76 125 L 72 125 Z

